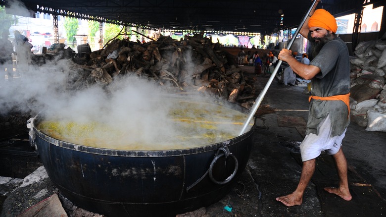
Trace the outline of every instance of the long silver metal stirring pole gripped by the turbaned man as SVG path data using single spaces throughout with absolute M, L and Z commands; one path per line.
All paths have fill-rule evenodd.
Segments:
M 288 49 L 288 50 L 290 50 L 290 48 L 291 48 L 293 42 L 294 42 L 295 39 L 296 39 L 297 34 L 299 34 L 299 31 L 300 31 L 301 27 L 302 27 L 303 24 L 305 23 L 305 21 L 306 21 L 306 19 L 307 19 L 307 16 L 310 14 L 310 12 L 311 12 L 311 10 L 312 10 L 312 7 L 314 7 L 316 1 L 317 1 L 317 0 L 313 0 L 313 1 L 312 1 L 311 7 L 307 10 L 306 14 L 304 15 L 303 19 L 301 20 L 299 27 L 297 27 L 295 33 L 293 34 L 293 36 L 292 36 L 290 42 L 289 42 L 288 45 L 287 45 L 287 49 Z M 278 64 L 276 65 L 276 67 L 275 67 L 274 71 L 272 72 L 271 77 L 269 78 L 267 84 L 265 85 L 264 89 L 261 91 L 259 97 L 256 99 L 255 104 L 253 105 L 251 111 L 249 112 L 249 116 L 248 116 L 248 118 L 246 119 L 246 121 L 244 122 L 244 125 L 242 126 L 242 129 L 241 129 L 241 132 L 240 132 L 239 135 L 242 135 L 242 134 L 245 132 L 245 130 L 246 130 L 248 124 L 250 123 L 250 121 L 251 121 L 252 118 L 253 118 L 253 115 L 256 113 L 256 110 L 259 108 L 261 102 L 263 101 L 263 98 L 264 98 L 265 94 L 267 93 L 269 86 L 271 86 L 271 83 L 272 83 L 273 79 L 275 78 L 276 73 L 278 72 L 278 70 L 279 70 L 280 65 L 282 64 L 282 62 L 283 62 L 282 60 L 279 60 Z

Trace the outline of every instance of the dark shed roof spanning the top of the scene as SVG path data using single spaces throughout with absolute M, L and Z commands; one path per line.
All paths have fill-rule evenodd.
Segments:
M 10 0 L 1 0 L 7 4 Z M 148 28 L 259 32 L 297 26 L 311 0 L 21 0 L 33 11 L 61 13 Z M 333 15 L 382 0 L 322 0 Z

